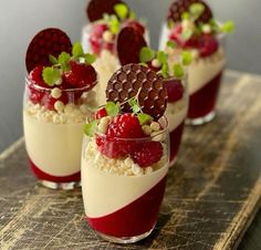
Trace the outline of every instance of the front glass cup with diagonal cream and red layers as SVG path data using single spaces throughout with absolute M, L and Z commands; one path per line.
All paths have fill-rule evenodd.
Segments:
M 82 194 L 90 227 L 102 238 L 116 243 L 139 241 L 154 230 L 164 198 L 169 166 L 167 119 L 153 137 L 114 138 L 98 149 L 104 135 L 84 137 L 82 153 Z M 128 147 L 163 147 L 161 158 L 142 168 L 130 156 L 109 158 Z M 150 145 L 150 146 L 152 146 Z M 152 147 L 150 147 L 152 148 Z M 103 153 L 102 153 L 103 152 Z

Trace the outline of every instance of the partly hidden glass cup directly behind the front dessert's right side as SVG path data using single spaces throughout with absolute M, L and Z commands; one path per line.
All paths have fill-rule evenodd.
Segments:
M 187 74 L 181 80 L 174 76 L 164 79 L 168 92 L 168 105 L 165 115 L 168 119 L 170 140 L 170 163 L 171 167 L 177 160 L 178 149 L 181 143 L 185 121 L 188 113 L 188 88 Z

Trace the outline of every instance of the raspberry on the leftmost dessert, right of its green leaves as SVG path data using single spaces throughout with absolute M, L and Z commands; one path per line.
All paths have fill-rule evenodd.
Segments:
M 92 65 L 71 61 L 71 71 L 64 74 L 66 82 L 74 87 L 86 87 L 88 91 L 94 87 L 97 80 L 96 71 Z

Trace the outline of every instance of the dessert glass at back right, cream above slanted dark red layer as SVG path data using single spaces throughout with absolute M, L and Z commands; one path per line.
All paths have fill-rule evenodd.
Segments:
M 226 34 L 218 34 L 219 49 L 196 59 L 188 67 L 189 108 L 186 124 L 202 125 L 216 116 L 216 104 L 226 66 Z

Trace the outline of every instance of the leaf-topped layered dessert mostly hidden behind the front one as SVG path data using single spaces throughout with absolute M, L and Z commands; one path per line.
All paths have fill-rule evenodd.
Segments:
M 168 42 L 168 46 L 173 48 Z M 163 77 L 164 86 L 167 90 L 168 104 L 165 115 L 168 119 L 170 137 L 170 166 L 177 159 L 177 153 L 181 143 L 185 119 L 188 112 L 187 74 L 186 69 L 192 58 L 189 52 L 182 52 L 180 56 L 170 60 L 164 51 L 154 51 L 145 46 L 139 53 L 140 63 L 145 64 Z

